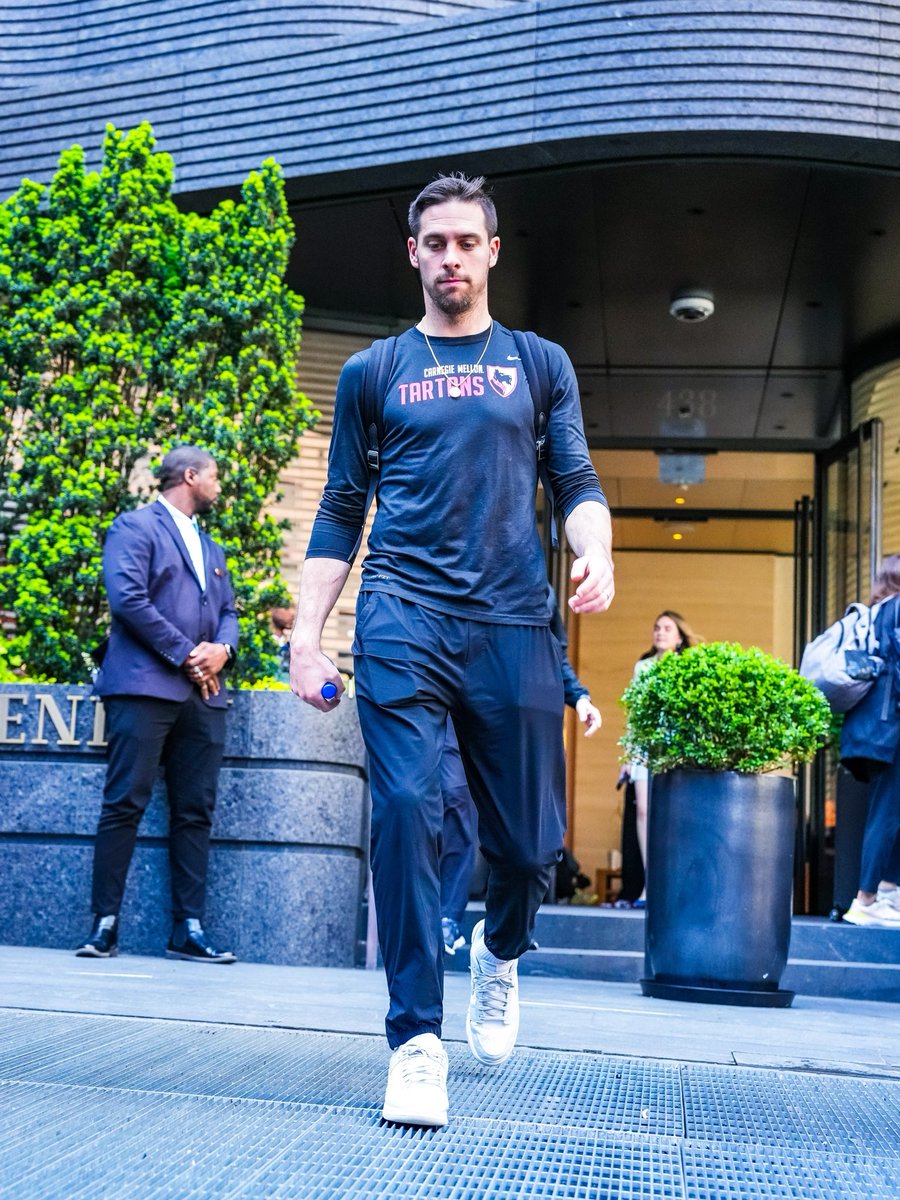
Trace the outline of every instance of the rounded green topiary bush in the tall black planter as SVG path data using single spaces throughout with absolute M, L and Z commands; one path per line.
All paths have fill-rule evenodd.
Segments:
M 654 774 L 749 774 L 809 762 L 830 731 L 818 689 L 758 647 L 708 642 L 666 654 L 625 690 L 620 745 Z

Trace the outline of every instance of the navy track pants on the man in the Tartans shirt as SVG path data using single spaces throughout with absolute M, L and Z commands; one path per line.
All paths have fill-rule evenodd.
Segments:
M 372 880 L 388 976 L 388 1042 L 440 1036 L 443 799 L 448 714 L 490 874 L 485 941 L 523 954 L 565 832 L 563 679 L 546 626 L 466 620 L 360 594 L 356 700 L 370 757 Z

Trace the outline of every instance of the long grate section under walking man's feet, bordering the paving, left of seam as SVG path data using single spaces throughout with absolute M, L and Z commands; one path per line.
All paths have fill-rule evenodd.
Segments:
M 32 1031 L 0 1019 L 0 1070 L 6 1079 L 277 1099 L 352 1108 L 380 1106 L 389 1051 L 380 1038 L 184 1021 L 55 1014 Z M 490 1097 L 496 1120 L 582 1129 L 683 1133 L 677 1063 L 517 1054 L 497 1072 L 449 1044 L 454 1112 L 480 1116 Z

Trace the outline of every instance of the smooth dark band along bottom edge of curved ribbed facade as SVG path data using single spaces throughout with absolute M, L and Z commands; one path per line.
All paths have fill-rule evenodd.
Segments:
M 823 133 L 770 131 L 649 132 L 629 136 L 589 137 L 564 142 L 524 143 L 497 146 L 473 154 L 460 151 L 449 157 L 382 163 L 374 167 L 324 174 L 289 175 L 286 179 L 288 204 L 343 204 L 347 200 L 418 192 L 439 172 L 466 170 L 487 175 L 492 182 L 532 173 L 563 172 L 572 167 L 604 167 L 653 160 L 804 162 L 848 170 L 900 174 L 900 148 L 893 139 L 839 137 Z M 241 180 L 242 182 L 242 180 Z M 178 192 L 179 206 L 208 212 L 223 199 L 240 198 L 240 182 L 194 192 Z

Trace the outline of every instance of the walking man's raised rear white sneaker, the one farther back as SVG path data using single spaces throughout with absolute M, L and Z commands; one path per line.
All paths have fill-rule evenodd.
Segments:
M 498 1067 L 512 1054 L 518 1033 L 518 959 L 506 962 L 491 954 L 485 946 L 484 920 L 472 931 L 469 972 L 469 1049 L 479 1062 Z

